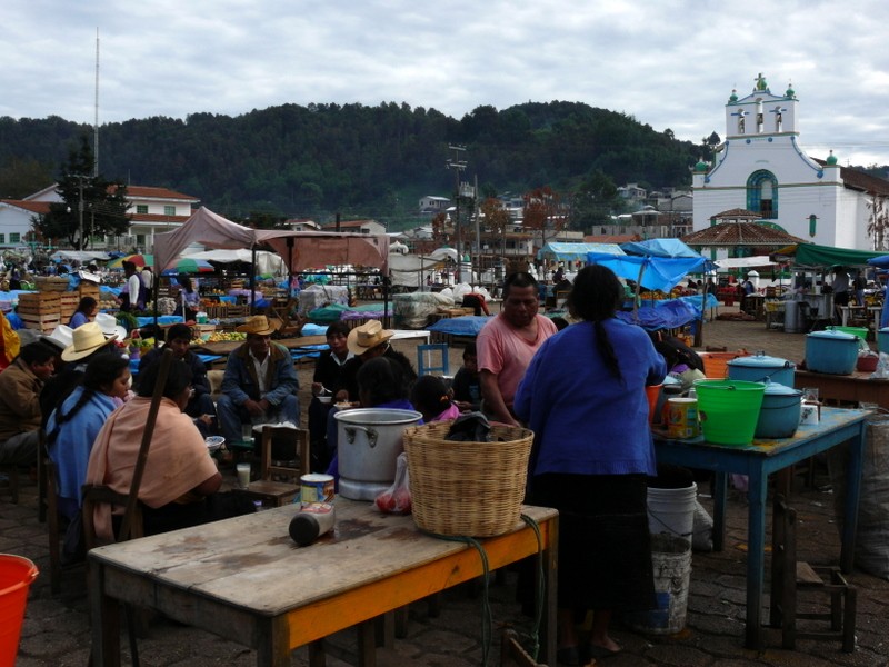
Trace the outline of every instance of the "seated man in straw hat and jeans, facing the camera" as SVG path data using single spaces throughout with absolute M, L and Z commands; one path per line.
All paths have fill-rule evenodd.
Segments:
M 242 424 L 290 421 L 299 426 L 299 380 L 290 351 L 271 341 L 278 329 L 264 315 L 247 318 L 236 331 L 247 341 L 229 355 L 217 402 L 219 429 L 228 442 L 240 441 Z

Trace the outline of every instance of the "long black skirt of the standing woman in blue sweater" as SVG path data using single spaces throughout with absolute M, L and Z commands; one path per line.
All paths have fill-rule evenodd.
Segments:
M 559 510 L 560 608 L 655 608 L 645 475 L 541 475 L 530 502 Z

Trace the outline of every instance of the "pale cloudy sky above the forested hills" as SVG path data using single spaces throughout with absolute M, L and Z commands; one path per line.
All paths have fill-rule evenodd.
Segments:
M 99 122 L 310 102 L 568 100 L 725 136 L 732 88 L 792 82 L 800 143 L 889 163 L 886 0 L 6 0 L 0 116 Z

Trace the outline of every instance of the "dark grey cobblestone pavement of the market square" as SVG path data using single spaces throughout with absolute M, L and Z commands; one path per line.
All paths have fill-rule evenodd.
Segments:
M 705 341 L 726 346 L 729 350 L 763 349 L 767 354 L 795 361 L 803 356 L 805 336 L 767 331 L 761 322 L 708 322 Z M 402 349 L 409 356 L 416 344 Z M 416 358 L 416 354 L 412 358 Z M 460 364 L 460 350 L 451 350 L 451 365 Z M 308 388 L 311 369 L 300 370 L 302 387 Z M 307 389 L 303 389 L 307 391 Z M 307 404 L 308 401 L 303 401 Z M 227 481 L 233 479 L 226 470 Z M 700 485 L 706 494 L 707 485 Z M 710 509 L 710 499 L 701 502 Z M 839 560 L 838 530 L 833 520 L 833 496 L 822 469 L 818 469 L 813 488 L 797 479 L 791 504 L 797 508 L 802 529 L 799 531 L 800 558 L 812 564 L 836 564 Z M 600 660 L 611 667 L 637 665 L 670 665 L 677 667 L 746 667 L 775 666 L 887 666 L 889 665 L 889 581 L 867 574 L 851 575 L 858 586 L 858 647 L 843 654 L 838 643 L 801 640 L 793 651 L 780 648 L 776 630 L 766 631 L 767 648 L 762 651 L 743 648 L 745 567 L 747 508 L 743 499 L 730 495 L 727 516 L 726 548 L 721 552 L 696 552 L 692 559 L 691 586 L 688 600 L 687 628 L 673 636 L 651 636 L 631 631 L 618 625 L 615 636 L 625 647 L 617 656 Z M 84 665 L 89 656 L 89 615 L 82 568 L 63 574 L 62 590 L 50 593 L 49 558 L 46 527 L 37 520 L 37 489 L 26 481 L 19 505 L 0 498 L 0 552 L 26 556 L 37 563 L 41 575 L 31 588 L 19 667 Z M 767 573 L 768 574 L 768 573 Z M 299 585 L 299 573 L 291 583 Z M 495 618 L 495 635 L 499 628 L 515 625 L 528 628 L 528 619 L 513 603 L 515 575 L 506 583 L 491 585 L 490 598 Z M 411 606 L 408 637 L 396 640 L 393 648 L 380 651 L 381 665 L 420 665 L 427 667 L 480 665 L 482 656 L 481 597 L 478 589 L 463 586 L 444 595 L 441 615 L 430 618 L 428 608 L 419 603 Z M 332 657 L 339 649 L 353 644 L 353 633 L 332 638 L 334 649 L 328 664 L 342 663 Z M 126 643 L 124 643 L 126 646 Z M 253 665 L 256 656 L 241 646 L 193 628 L 154 619 L 149 636 L 140 640 L 142 665 L 157 667 Z M 124 664 L 129 656 L 123 655 Z M 307 665 L 304 649 L 293 653 L 292 665 Z M 495 646 L 490 665 L 498 664 Z

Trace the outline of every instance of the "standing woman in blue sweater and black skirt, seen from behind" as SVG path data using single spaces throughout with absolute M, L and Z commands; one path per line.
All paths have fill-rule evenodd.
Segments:
M 559 661 L 580 664 L 575 618 L 593 610 L 589 650 L 617 653 L 612 610 L 655 603 L 646 477 L 655 475 L 646 385 L 667 375 L 640 327 L 615 318 L 623 288 L 605 267 L 575 279 L 582 321 L 537 351 L 515 410 L 535 432 L 529 498 L 559 510 Z M 580 616 L 582 618 L 582 616 Z

